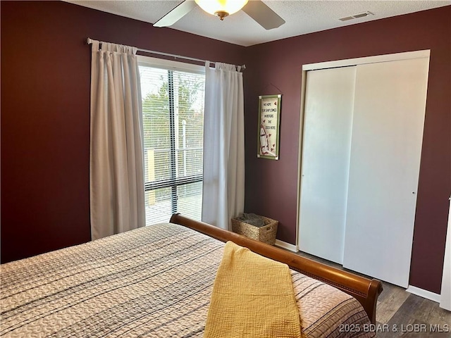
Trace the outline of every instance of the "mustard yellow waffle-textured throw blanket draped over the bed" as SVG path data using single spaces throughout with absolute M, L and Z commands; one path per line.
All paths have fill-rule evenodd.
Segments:
M 301 319 L 288 265 L 227 242 L 204 338 L 299 338 Z

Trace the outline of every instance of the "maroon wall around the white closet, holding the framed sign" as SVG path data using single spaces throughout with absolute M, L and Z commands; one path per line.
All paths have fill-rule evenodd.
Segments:
M 280 221 L 295 244 L 302 65 L 431 49 L 410 284 L 440 293 L 451 192 L 451 6 L 246 49 L 245 209 Z M 257 97 L 283 94 L 280 160 L 257 159 Z

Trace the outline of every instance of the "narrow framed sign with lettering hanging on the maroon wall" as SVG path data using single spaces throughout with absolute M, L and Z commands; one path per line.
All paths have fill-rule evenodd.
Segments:
M 279 159 L 279 122 L 282 94 L 259 96 L 257 157 Z

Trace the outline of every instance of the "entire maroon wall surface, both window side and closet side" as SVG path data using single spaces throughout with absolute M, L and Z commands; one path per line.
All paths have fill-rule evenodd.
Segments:
M 246 210 L 295 244 L 304 63 L 431 49 L 410 283 L 440 292 L 451 191 L 451 7 L 236 46 L 62 1 L 1 1 L 1 261 L 87 242 L 86 38 L 246 63 Z M 257 96 L 283 94 L 280 160 L 257 159 Z

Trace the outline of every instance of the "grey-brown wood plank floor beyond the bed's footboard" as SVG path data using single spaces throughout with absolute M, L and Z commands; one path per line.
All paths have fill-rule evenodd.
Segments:
M 342 265 L 298 252 L 300 256 L 319 261 L 340 270 Z M 365 276 L 367 277 L 367 276 Z M 402 287 L 383 282 L 383 292 L 376 308 L 378 338 L 451 338 L 451 312 L 435 301 L 406 292 Z

